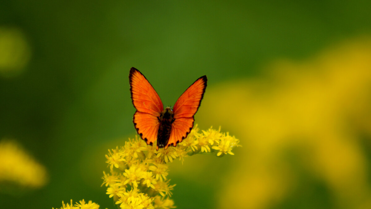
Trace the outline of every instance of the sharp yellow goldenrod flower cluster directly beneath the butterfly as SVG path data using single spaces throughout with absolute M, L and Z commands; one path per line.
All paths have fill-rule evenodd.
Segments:
M 135 136 L 121 148 L 109 150 L 106 155 L 110 173 L 104 172 L 102 185 L 108 187 L 106 194 L 113 197 L 115 204 L 124 209 L 170 209 L 175 208 L 171 197 L 175 184 L 170 184 L 168 162 L 184 161 L 194 154 L 223 156 L 232 154 L 233 147 L 239 147 L 239 140 L 210 128 L 198 132 L 194 126 L 187 138 L 176 147 L 156 150 Z M 211 147 L 211 148 L 210 148 Z

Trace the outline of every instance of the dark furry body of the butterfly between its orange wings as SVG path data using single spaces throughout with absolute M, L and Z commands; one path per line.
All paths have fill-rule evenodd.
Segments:
M 167 142 L 170 138 L 171 133 L 171 123 L 174 122 L 174 114 L 173 110 L 170 107 L 166 107 L 158 117 L 158 121 L 160 125 L 158 126 L 158 134 L 157 134 L 157 146 L 158 148 L 163 148 L 167 145 Z

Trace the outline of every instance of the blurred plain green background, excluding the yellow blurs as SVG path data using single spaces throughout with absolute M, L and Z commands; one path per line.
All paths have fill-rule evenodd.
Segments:
M 208 88 L 257 77 L 275 58 L 310 57 L 369 34 L 370 8 L 370 1 L 0 1 L 0 27 L 19 28 L 31 49 L 22 74 L 0 77 L 0 138 L 17 139 L 49 173 L 41 189 L 0 193 L 1 208 L 56 208 L 70 199 L 114 208 L 100 178 L 107 149 L 136 133 L 131 67 L 173 106 L 202 75 Z M 237 154 L 203 173 L 222 175 Z M 170 178 L 178 208 L 216 207 L 217 183 L 206 187 L 171 171 Z M 331 208 L 322 187 L 327 205 L 319 208 Z M 307 208 L 300 198 L 282 208 Z

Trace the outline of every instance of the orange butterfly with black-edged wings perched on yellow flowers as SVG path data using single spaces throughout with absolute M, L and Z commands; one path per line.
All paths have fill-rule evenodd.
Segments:
M 173 109 L 164 109 L 155 89 L 134 67 L 130 69 L 129 83 L 132 103 L 137 109 L 133 122 L 138 134 L 149 145 L 157 140 L 157 150 L 167 149 L 170 145 L 176 147 L 193 128 L 194 114 L 200 107 L 207 86 L 206 75 L 184 91 Z

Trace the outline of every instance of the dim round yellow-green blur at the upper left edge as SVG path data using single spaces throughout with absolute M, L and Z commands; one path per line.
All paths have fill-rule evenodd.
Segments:
M 30 46 L 21 30 L 0 27 L 0 75 L 12 77 L 22 73 L 30 54 Z

